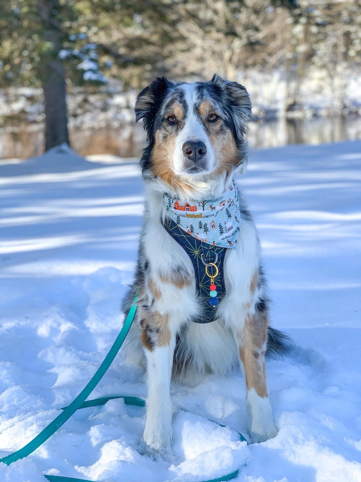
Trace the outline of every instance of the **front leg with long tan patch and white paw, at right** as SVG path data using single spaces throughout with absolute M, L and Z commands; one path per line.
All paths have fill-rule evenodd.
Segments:
M 267 326 L 265 314 L 246 313 L 242 328 L 234 331 L 245 373 L 248 429 L 252 442 L 264 442 L 277 435 L 266 385 Z

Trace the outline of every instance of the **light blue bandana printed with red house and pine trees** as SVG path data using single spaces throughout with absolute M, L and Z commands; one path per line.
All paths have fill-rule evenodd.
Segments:
M 219 198 L 181 202 L 163 194 L 168 216 L 193 238 L 235 249 L 239 233 L 239 199 L 234 181 Z

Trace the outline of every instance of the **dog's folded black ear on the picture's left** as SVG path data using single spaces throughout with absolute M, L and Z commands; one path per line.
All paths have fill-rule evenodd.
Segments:
M 148 87 L 145 87 L 137 97 L 134 108 L 135 116 L 137 121 L 143 119 L 148 143 L 153 139 L 156 114 L 172 84 L 173 82 L 169 82 L 165 77 L 158 77 Z

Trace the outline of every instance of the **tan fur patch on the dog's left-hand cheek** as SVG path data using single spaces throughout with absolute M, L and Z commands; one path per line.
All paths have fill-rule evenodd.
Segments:
M 151 171 L 166 182 L 174 191 L 190 196 L 194 192 L 194 188 L 181 181 L 180 177 L 173 170 L 172 159 L 175 149 L 175 138 L 175 135 L 169 135 L 162 129 L 155 133 Z

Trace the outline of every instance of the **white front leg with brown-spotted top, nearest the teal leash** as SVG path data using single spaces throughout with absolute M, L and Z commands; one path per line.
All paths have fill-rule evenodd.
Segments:
M 176 333 L 172 333 L 168 314 L 142 313 L 141 340 L 147 359 L 148 397 L 144 442 L 151 452 L 166 455 L 172 437 L 170 377 Z

